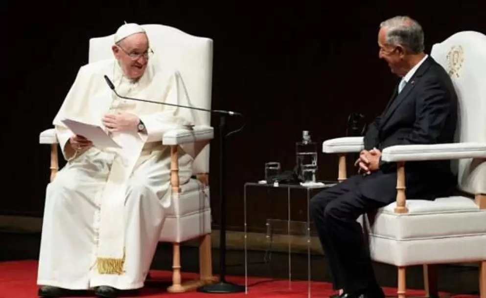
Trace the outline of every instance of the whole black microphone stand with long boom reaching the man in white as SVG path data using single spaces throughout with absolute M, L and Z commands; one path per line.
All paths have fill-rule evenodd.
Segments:
M 237 112 L 231 112 L 231 111 L 224 111 L 224 110 L 210 110 L 210 109 L 205 109 L 201 107 L 195 107 L 195 106 L 181 106 L 181 105 L 175 105 L 175 104 L 169 104 L 169 103 L 162 103 L 162 102 L 155 102 L 155 101 L 150 101 L 150 100 L 145 100 L 145 99 L 138 99 L 138 98 L 132 98 L 132 97 L 126 97 L 126 96 L 121 96 L 116 92 L 115 85 L 111 82 L 111 80 L 108 78 L 108 76 L 104 76 L 106 84 L 110 87 L 110 89 L 113 90 L 113 92 L 118 96 L 119 98 L 123 99 L 128 99 L 128 100 L 134 100 L 134 101 L 139 101 L 139 102 L 145 102 L 145 103 L 151 103 L 151 104 L 157 104 L 157 105 L 167 105 L 167 106 L 178 106 L 178 107 L 184 107 L 184 108 L 189 108 L 189 109 L 195 109 L 195 110 L 200 110 L 200 111 L 206 111 L 209 113 L 217 113 L 219 114 L 219 213 L 220 213 L 220 234 L 219 234 L 219 239 L 220 239 L 220 247 L 219 247 L 219 264 L 220 264 L 220 274 L 219 274 L 219 282 L 213 283 L 213 284 L 207 284 L 204 286 L 201 286 L 197 288 L 198 292 L 203 292 L 203 293 L 239 293 L 239 292 L 244 292 L 245 291 L 245 286 L 234 284 L 231 282 L 226 281 L 226 199 L 225 199 L 225 137 L 228 137 L 230 134 L 235 133 L 243 129 L 244 124 L 242 127 L 238 128 L 237 130 L 231 131 L 229 134 L 225 134 L 225 125 L 226 125 L 226 115 L 230 116 L 241 116 L 243 117 L 242 114 L 237 113 Z

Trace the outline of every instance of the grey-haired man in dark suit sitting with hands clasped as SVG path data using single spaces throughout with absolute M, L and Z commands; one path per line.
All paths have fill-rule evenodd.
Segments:
M 370 125 L 358 174 L 315 195 L 310 208 L 334 278 L 334 288 L 347 298 L 385 297 L 378 286 L 360 214 L 395 201 L 396 165 L 381 161 L 389 146 L 452 143 L 457 122 L 457 94 L 446 71 L 424 53 L 421 26 L 409 17 L 380 25 L 379 58 L 401 77 L 385 110 Z M 454 176 L 449 161 L 408 162 L 408 198 L 435 199 Z

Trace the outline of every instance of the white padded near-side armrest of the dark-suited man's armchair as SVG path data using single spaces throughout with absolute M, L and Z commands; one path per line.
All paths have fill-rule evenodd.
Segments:
M 383 149 L 381 155 L 387 162 L 462 158 L 486 158 L 486 143 L 397 145 Z

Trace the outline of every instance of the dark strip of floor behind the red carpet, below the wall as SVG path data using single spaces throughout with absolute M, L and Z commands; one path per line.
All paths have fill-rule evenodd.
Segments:
M 0 262 L 7 260 L 37 259 L 39 254 L 40 234 L 0 232 Z M 172 266 L 172 248 L 161 243 L 152 263 L 153 269 L 170 270 Z M 198 253 L 195 247 L 183 246 L 181 249 L 182 270 L 198 271 Z M 288 278 L 288 254 L 273 253 L 271 261 L 265 263 L 265 253 L 248 253 L 248 274 L 250 276 Z M 244 251 L 229 251 L 226 257 L 227 275 L 245 274 Z M 292 279 L 307 279 L 307 255 L 291 255 Z M 213 272 L 219 273 L 219 251 L 213 250 Z M 375 264 L 375 272 L 381 286 L 396 287 L 396 269 L 393 266 Z M 438 268 L 439 288 L 451 294 L 478 295 L 478 268 L 454 265 L 442 265 Z M 311 256 L 311 276 L 313 280 L 330 281 L 323 255 Z M 422 268 L 411 267 L 407 270 L 407 287 L 423 289 Z

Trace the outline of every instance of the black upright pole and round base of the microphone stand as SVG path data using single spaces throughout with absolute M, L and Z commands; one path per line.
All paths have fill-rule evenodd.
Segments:
M 197 288 L 202 293 L 239 293 L 245 291 L 245 286 L 234 284 L 226 280 L 226 198 L 225 191 L 225 125 L 226 115 L 219 114 L 219 211 L 220 211 L 220 234 L 219 234 L 219 281 Z

